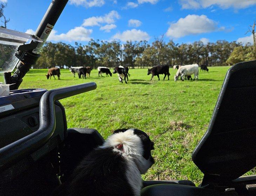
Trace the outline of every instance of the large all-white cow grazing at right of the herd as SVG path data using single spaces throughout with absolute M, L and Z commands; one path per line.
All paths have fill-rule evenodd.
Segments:
M 179 76 L 181 80 L 184 81 L 183 76 L 191 76 L 192 74 L 195 76 L 194 80 L 195 78 L 198 79 L 198 64 L 181 66 L 174 76 L 174 81 L 177 81 Z

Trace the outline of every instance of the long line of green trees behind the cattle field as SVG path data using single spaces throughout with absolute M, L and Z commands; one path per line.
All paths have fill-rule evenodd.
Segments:
M 63 42 L 46 42 L 34 68 L 49 68 L 59 66 L 106 66 L 109 68 L 123 65 L 134 68 L 151 67 L 154 65 L 185 65 L 207 64 L 208 66 L 231 65 L 241 62 L 253 46 L 241 43 L 218 40 L 215 43 L 203 44 L 201 41 L 194 43 L 174 43 L 173 40 L 165 42 L 163 36 L 155 38 L 150 44 L 147 41 L 99 41 L 90 40 L 86 45 L 75 42 L 75 45 Z M 242 52 L 243 51 L 243 52 Z M 235 54 L 234 54 L 235 53 Z M 244 55 L 236 58 L 237 54 Z M 233 55 L 232 55 L 233 54 Z M 255 59 L 252 52 L 249 60 Z

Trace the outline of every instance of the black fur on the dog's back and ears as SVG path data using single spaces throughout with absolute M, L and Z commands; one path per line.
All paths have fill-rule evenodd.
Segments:
M 127 129 L 115 130 L 114 133 Z M 151 150 L 154 143 L 143 131 L 133 129 L 142 141 L 145 159 L 154 159 Z M 53 193 L 54 196 L 134 196 L 133 188 L 125 174 L 127 161 L 114 147 L 96 148 L 75 169 L 70 179 L 61 184 Z

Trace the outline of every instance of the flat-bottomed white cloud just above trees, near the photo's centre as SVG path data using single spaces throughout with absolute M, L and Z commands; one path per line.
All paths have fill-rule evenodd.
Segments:
M 125 41 L 143 41 L 143 40 L 149 40 L 150 36 L 148 35 L 147 32 L 142 31 L 142 30 L 137 30 L 137 29 L 132 29 L 132 30 L 126 30 L 123 31 L 123 33 L 117 33 L 113 37 L 113 39 L 119 39 L 123 42 Z

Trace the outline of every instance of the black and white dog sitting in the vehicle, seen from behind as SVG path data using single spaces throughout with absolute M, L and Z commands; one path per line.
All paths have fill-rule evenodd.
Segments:
M 153 165 L 154 143 L 137 129 L 119 129 L 88 154 L 59 196 L 140 196 L 141 174 Z

